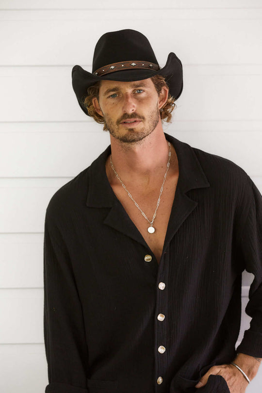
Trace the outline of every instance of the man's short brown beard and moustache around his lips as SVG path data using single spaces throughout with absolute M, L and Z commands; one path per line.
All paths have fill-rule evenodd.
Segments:
M 138 118 L 141 119 L 143 122 L 145 121 L 145 117 L 132 114 L 129 117 L 127 115 L 125 118 L 122 118 L 121 120 L 116 121 L 116 123 L 111 119 L 111 117 L 108 114 L 103 114 L 104 116 L 104 121 L 105 121 L 105 126 L 107 127 L 107 130 L 110 132 L 110 134 L 118 139 L 119 141 L 123 143 L 135 143 L 138 141 L 141 141 L 144 139 L 147 135 L 149 135 L 151 132 L 154 131 L 156 126 L 158 125 L 159 122 L 159 109 L 156 107 L 155 110 L 153 110 L 149 115 L 147 116 L 147 123 L 144 123 L 144 127 L 141 127 L 140 125 L 138 127 L 132 128 L 122 128 L 120 130 L 120 123 L 124 120 L 131 119 L 131 118 Z M 139 130 L 139 131 L 138 131 Z

